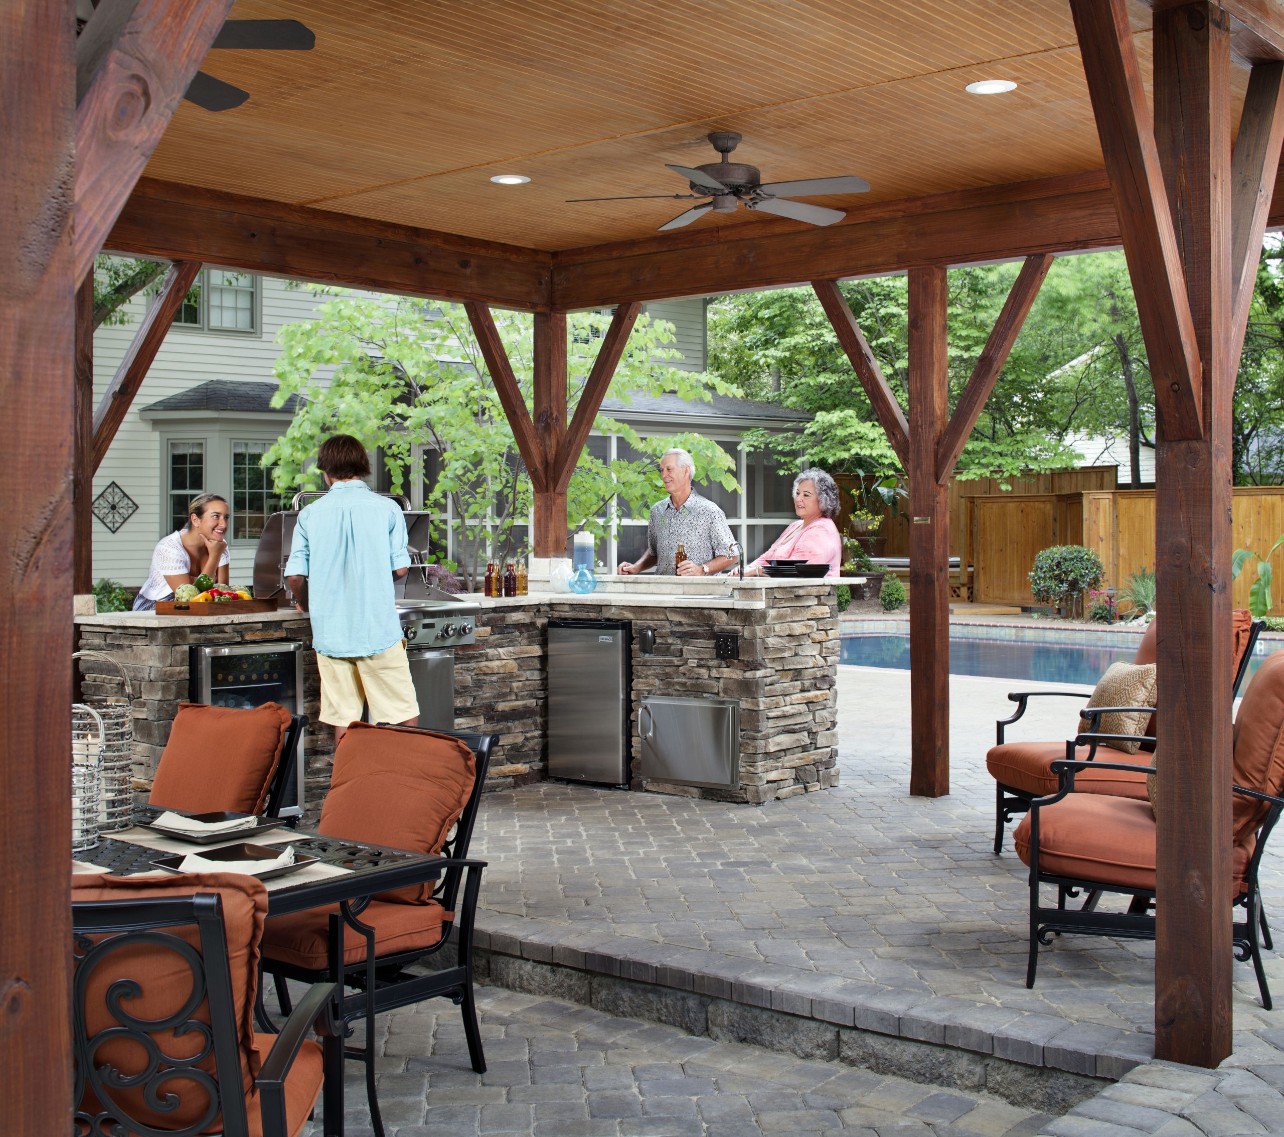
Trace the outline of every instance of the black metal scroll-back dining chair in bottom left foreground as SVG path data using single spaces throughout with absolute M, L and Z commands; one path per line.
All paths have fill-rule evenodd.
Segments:
M 72 926 L 74 1132 L 189 1137 L 212 1132 L 221 1119 L 225 1137 L 249 1137 L 244 1034 L 220 894 L 78 902 L 72 904 Z M 196 929 L 199 949 L 175 934 L 181 926 Z M 176 973 L 185 988 L 177 998 Z M 87 1002 L 91 987 L 103 997 L 99 1006 Z M 257 1100 L 263 1137 L 294 1137 L 307 1120 L 311 1105 L 300 1109 L 297 1100 L 293 1123 L 288 1118 L 286 1088 L 294 1074 L 302 1075 L 306 1084 L 290 1088 L 304 1102 L 316 1100 L 320 1056 L 313 1055 L 315 1077 L 294 1064 L 311 1028 L 321 1034 L 338 1029 L 330 1010 L 334 993 L 333 983 L 313 985 L 276 1032 L 249 1095 L 249 1105 Z M 162 1018 L 148 1006 L 149 998 L 167 1005 Z M 130 1014 L 134 1001 L 137 1015 Z M 104 1021 L 101 1029 L 90 1027 Z M 163 1043 L 157 1034 L 167 1036 Z M 187 1047 L 191 1053 L 171 1055 L 184 1036 L 195 1043 Z M 113 1061 L 141 1069 L 122 1073 Z M 176 1123 L 172 1128 L 167 1115 Z

